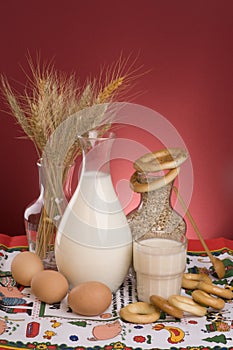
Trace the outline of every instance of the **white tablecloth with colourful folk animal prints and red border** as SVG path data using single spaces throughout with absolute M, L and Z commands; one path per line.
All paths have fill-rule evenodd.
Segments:
M 224 238 L 207 240 L 213 254 L 223 259 L 226 276 L 219 280 L 199 241 L 189 240 L 186 272 L 206 272 L 213 283 L 233 289 L 233 241 Z M 113 295 L 112 304 L 98 317 L 83 317 L 71 312 L 64 298 L 47 305 L 30 291 L 15 283 L 11 261 L 27 250 L 25 236 L 0 234 L 0 349 L 53 350 L 140 350 L 189 349 L 233 350 L 233 301 L 221 311 L 209 308 L 204 317 L 185 314 L 181 320 L 164 313 L 148 325 L 124 322 L 119 310 L 137 301 L 135 279 L 128 275 Z M 183 295 L 190 291 L 182 290 Z

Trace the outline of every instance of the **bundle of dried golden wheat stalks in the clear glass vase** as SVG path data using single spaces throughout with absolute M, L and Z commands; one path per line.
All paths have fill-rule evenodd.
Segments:
M 34 63 L 28 56 L 29 73 L 25 70 L 27 84 L 24 94 L 13 91 L 5 76 L 1 76 L 1 90 L 7 103 L 9 113 L 13 115 L 21 126 L 24 134 L 35 146 L 38 157 L 41 158 L 51 135 L 71 115 L 85 110 L 85 108 L 111 102 L 119 98 L 120 94 L 129 89 L 130 81 L 134 80 L 136 72 L 129 58 L 120 56 L 115 64 L 102 69 L 98 78 L 87 79 L 84 86 L 79 84 L 75 74 L 70 76 L 55 70 L 51 62 L 41 64 L 40 57 Z M 59 205 L 54 205 L 52 199 L 57 195 L 56 164 L 64 160 L 62 183 L 65 183 L 70 164 L 80 154 L 77 134 L 82 130 L 90 130 L 101 124 L 100 115 L 88 117 L 82 123 L 75 125 L 75 129 L 66 128 L 60 133 L 57 144 L 53 145 L 55 152 L 49 156 L 52 165 L 47 172 L 48 186 L 45 192 L 46 210 L 44 208 L 38 227 L 37 254 L 44 258 L 51 249 L 56 234 L 56 227 L 52 218 L 56 213 L 62 214 Z M 110 124 L 102 127 L 108 129 Z M 68 141 L 69 142 L 68 142 Z M 69 146 L 69 147 L 68 147 Z M 59 150 L 59 151 L 58 151 Z M 65 155 L 63 154 L 65 152 Z M 46 164 L 46 160 L 45 164 Z

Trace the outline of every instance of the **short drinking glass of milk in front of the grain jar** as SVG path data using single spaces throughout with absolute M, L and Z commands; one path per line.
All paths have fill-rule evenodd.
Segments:
M 146 234 L 133 242 L 133 265 L 140 301 L 149 302 L 151 295 L 167 299 L 180 294 L 186 267 L 185 234 Z

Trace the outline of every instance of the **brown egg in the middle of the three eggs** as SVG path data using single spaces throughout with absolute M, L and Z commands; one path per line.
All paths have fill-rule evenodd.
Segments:
M 38 272 L 31 281 L 31 291 L 47 304 L 61 301 L 68 292 L 67 279 L 58 271 L 44 270 Z

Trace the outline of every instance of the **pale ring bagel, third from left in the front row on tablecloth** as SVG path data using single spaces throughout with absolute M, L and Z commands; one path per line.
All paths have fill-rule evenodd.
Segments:
M 168 298 L 169 304 L 180 310 L 188 312 L 195 316 L 204 316 L 207 312 L 206 307 L 197 304 L 193 299 L 181 295 L 171 295 Z

